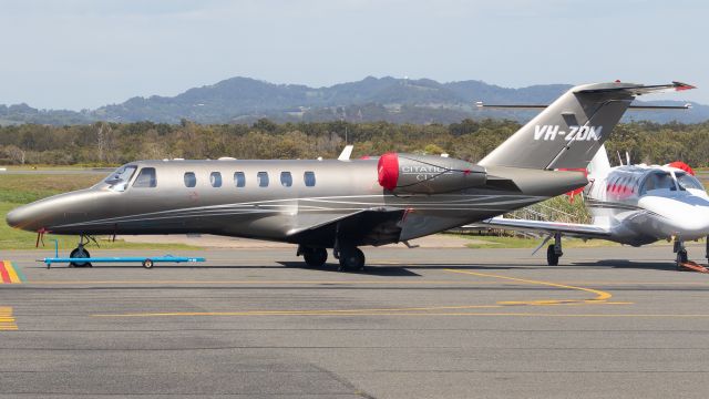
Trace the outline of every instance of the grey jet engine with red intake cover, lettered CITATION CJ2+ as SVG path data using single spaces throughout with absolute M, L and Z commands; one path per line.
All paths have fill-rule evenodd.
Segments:
M 379 158 L 379 184 L 394 193 L 436 194 L 485 185 L 485 168 L 433 155 L 387 153 Z

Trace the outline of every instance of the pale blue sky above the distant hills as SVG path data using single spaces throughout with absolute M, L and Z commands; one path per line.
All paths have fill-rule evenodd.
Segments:
M 0 0 L 0 103 L 97 108 L 242 75 L 503 86 L 684 80 L 709 104 L 707 1 Z

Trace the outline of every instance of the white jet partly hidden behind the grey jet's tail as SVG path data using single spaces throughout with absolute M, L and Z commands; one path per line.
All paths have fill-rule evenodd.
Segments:
M 590 183 L 584 194 L 594 217 L 593 224 L 503 217 L 493 217 L 486 224 L 548 233 L 540 248 L 554 237 L 554 244 L 546 250 L 549 266 L 558 265 L 558 258 L 563 255 L 562 235 L 600 238 L 633 246 L 674 239 L 678 268 L 688 262 L 685 241 L 709 236 L 709 197 L 692 175 L 693 171 L 685 164 L 610 167 L 606 149 L 602 146 L 590 162 L 589 170 Z M 705 256 L 709 258 L 709 239 Z

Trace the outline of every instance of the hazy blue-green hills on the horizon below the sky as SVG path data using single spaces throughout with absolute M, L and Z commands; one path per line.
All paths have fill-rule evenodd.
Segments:
M 178 123 L 253 123 L 261 117 L 277 122 L 388 121 L 393 123 L 455 123 L 463 119 L 528 120 L 524 111 L 481 111 L 475 101 L 507 104 L 546 104 L 571 85 L 545 84 L 507 89 L 481 81 L 439 83 L 429 79 L 366 78 L 329 88 L 273 84 L 232 78 L 189 89 L 176 96 L 132 98 L 121 104 L 82 112 L 37 110 L 27 104 L 0 105 L 0 125 L 18 123 L 84 124 L 95 121 Z M 648 102 L 655 103 L 655 102 Z M 658 104 L 684 104 L 664 101 Z M 626 121 L 696 123 L 709 120 L 709 106 L 689 111 L 630 112 Z

